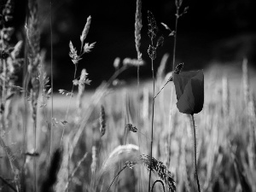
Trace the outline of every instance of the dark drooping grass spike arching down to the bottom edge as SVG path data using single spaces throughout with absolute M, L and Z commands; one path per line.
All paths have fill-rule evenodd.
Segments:
M 169 191 L 175 191 L 175 181 L 173 179 L 172 173 L 167 170 L 166 166 L 160 161 L 155 160 L 154 157 L 151 158 L 151 166 L 150 166 L 150 157 L 148 155 L 142 154 L 140 155 L 140 160 L 146 166 L 146 168 L 151 170 L 152 172 L 156 172 L 160 179 L 162 179 L 167 185 Z

